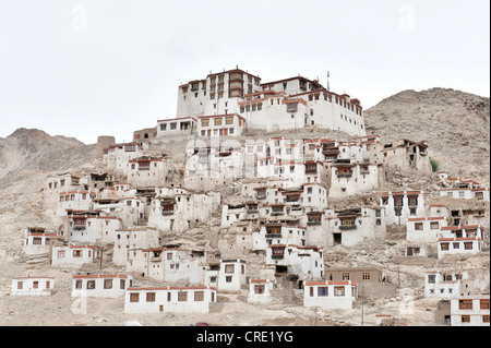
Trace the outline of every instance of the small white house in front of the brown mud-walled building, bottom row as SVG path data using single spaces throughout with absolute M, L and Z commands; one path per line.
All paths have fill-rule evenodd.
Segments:
M 322 309 L 352 309 L 352 302 L 358 298 L 358 285 L 351 280 L 306 283 L 303 305 Z

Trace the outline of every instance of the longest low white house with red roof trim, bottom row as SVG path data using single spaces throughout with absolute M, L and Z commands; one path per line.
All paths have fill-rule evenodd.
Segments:
M 128 288 L 125 313 L 208 313 L 216 302 L 216 289 L 211 287 Z

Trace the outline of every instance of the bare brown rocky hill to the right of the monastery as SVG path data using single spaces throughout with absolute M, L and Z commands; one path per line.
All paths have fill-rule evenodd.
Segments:
M 368 134 L 384 142 L 428 141 L 441 170 L 490 178 L 489 98 L 454 89 L 403 91 L 364 111 Z

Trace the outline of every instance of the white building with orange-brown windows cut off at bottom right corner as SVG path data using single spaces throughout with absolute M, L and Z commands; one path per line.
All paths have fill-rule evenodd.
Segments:
M 490 326 L 489 293 L 452 299 L 451 326 Z

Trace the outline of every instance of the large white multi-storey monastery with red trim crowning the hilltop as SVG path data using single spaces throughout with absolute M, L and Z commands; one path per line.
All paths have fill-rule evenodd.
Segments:
M 157 121 L 157 137 L 241 135 L 319 125 L 364 136 L 360 100 L 302 76 L 261 83 L 240 69 L 179 86 L 176 118 Z

